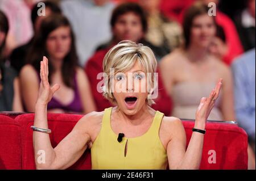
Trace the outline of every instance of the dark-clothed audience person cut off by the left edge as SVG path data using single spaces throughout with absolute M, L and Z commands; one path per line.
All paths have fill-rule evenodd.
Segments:
M 8 19 L 0 11 L 0 111 L 22 112 L 19 79 L 15 70 L 6 64 L 6 57 L 3 54 L 8 31 Z

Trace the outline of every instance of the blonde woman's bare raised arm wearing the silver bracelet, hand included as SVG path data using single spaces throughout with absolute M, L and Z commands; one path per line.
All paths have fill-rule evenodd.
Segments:
M 48 60 L 44 57 L 40 62 L 40 89 L 38 99 L 35 106 L 34 126 L 38 128 L 48 129 L 47 123 L 47 104 L 51 100 L 55 91 L 60 86 L 49 86 L 48 82 Z M 87 118 L 86 118 L 87 117 Z M 66 169 L 73 165 L 84 153 L 87 148 L 87 142 L 90 136 L 86 131 L 89 128 L 87 124 L 89 115 L 84 116 L 75 125 L 72 132 L 69 133 L 57 146 L 52 148 L 49 134 L 42 132 L 33 132 L 33 145 L 35 153 L 36 169 Z M 39 151 L 44 151 L 45 162 L 38 162 Z

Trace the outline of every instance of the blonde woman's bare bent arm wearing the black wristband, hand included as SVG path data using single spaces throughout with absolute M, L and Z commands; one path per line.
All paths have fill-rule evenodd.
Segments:
M 217 83 L 208 98 L 202 98 L 196 111 L 194 128 L 205 129 L 205 124 L 210 111 L 214 107 L 214 101 L 220 93 L 222 79 Z M 185 131 L 180 120 L 176 121 L 171 140 L 167 145 L 167 155 L 170 169 L 199 169 L 203 151 L 204 134 L 193 132 L 185 151 Z

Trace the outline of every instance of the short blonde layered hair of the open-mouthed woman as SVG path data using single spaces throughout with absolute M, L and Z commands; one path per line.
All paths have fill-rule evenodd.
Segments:
M 148 87 L 152 88 L 152 85 L 155 85 L 154 81 L 156 81 L 154 79 L 154 73 L 156 71 L 157 61 L 154 53 L 149 47 L 125 40 L 115 45 L 108 53 L 106 53 L 102 66 L 104 73 L 108 76 L 104 78 L 105 87 L 103 89 L 103 96 L 110 100 L 110 102 L 116 103 L 112 91 L 109 91 L 111 90 L 110 78 L 114 76 L 110 75 L 110 69 L 114 68 L 115 73 L 123 73 L 131 69 L 136 62 L 143 67 L 145 74 L 151 73 L 151 78 L 148 79 L 150 86 Z M 154 88 L 151 89 L 151 91 L 148 91 L 146 102 L 150 106 L 151 104 L 155 104 L 154 100 L 150 99 L 150 95 L 154 91 Z

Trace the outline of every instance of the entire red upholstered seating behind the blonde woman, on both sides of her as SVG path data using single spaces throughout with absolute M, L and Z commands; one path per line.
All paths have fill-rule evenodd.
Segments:
M 48 114 L 52 146 L 55 147 L 77 123 L 82 115 Z M 0 115 L 0 169 L 35 169 L 32 130 L 34 114 L 14 119 Z M 187 145 L 193 121 L 184 121 Z M 247 169 L 247 134 L 234 124 L 207 123 L 200 169 Z M 216 163 L 214 163 L 214 155 Z M 210 162 L 208 162 L 208 160 Z M 213 162 L 213 163 L 212 163 Z M 69 169 L 91 169 L 90 152 Z

